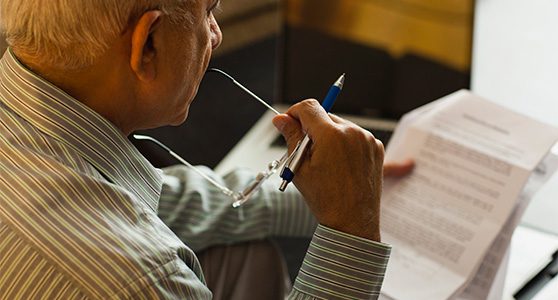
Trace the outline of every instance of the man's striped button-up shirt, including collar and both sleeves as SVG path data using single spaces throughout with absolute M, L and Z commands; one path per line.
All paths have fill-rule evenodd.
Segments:
M 291 298 L 376 298 L 389 246 L 316 226 L 296 194 L 264 186 L 233 209 L 189 169 L 155 169 L 11 51 L 0 60 L 1 299 L 208 299 L 193 251 L 268 236 L 312 236 Z

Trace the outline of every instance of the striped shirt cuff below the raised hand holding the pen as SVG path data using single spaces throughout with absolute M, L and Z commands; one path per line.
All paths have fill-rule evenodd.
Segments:
M 322 299 L 376 299 L 391 246 L 319 225 L 294 284 Z

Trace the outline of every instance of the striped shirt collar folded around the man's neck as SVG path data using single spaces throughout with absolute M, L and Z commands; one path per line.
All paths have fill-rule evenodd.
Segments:
M 110 121 L 28 70 L 10 49 L 0 60 L 0 101 L 41 132 L 76 150 L 153 210 L 162 179 Z

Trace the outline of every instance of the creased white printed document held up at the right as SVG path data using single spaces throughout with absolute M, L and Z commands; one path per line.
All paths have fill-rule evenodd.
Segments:
M 386 160 L 412 158 L 416 168 L 385 182 L 382 238 L 393 251 L 383 293 L 469 298 L 463 292 L 489 259 L 496 267 L 485 272 L 493 279 L 501 261 L 487 254 L 506 251 L 524 210 L 519 204 L 528 202 L 520 197 L 525 183 L 557 140 L 556 128 L 468 91 L 405 116 Z M 489 288 L 479 288 L 484 297 Z

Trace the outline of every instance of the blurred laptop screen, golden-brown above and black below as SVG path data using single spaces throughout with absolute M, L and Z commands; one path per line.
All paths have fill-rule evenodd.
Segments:
M 469 88 L 473 0 L 285 0 L 279 103 L 321 100 L 346 73 L 335 113 L 398 119 Z

